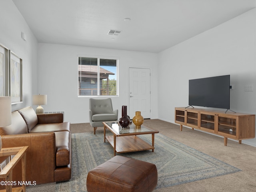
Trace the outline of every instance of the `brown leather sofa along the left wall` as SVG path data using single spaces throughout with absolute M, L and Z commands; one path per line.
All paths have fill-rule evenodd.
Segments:
M 2 147 L 29 146 L 26 180 L 36 184 L 71 178 L 70 122 L 63 114 L 36 114 L 32 107 L 12 112 L 12 124 L 0 128 Z M 21 181 L 21 163 L 13 170 L 13 180 Z

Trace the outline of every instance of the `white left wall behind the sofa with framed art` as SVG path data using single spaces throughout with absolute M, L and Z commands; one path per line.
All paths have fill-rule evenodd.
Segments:
M 26 42 L 22 40 L 21 32 L 26 34 Z M 23 62 L 23 102 L 13 104 L 12 110 L 31 106 L 32 94 L 37 94 L 38 42 L 11 0 L 1 0 L 0 3 L 0 44 L 22 58 Z

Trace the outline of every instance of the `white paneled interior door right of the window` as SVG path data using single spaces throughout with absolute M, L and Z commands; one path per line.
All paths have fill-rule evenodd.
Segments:
M 150 69 L 129 68 L 129 116 L 140 111 L 150 118 Z

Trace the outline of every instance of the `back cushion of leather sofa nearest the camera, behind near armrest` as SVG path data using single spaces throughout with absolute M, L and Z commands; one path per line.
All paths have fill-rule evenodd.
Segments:
M 0 135 L 13 135 L 28 133 L 26 122 L 18 111 L 12 112 L 12 124 L 0 128 Z

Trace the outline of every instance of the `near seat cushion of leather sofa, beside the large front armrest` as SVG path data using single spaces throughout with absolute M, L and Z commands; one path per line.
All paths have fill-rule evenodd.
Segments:
M 67 166 L 70 164 L 70 139 L 68 131 L 55 132 L 56 138 L 56 166 Z

